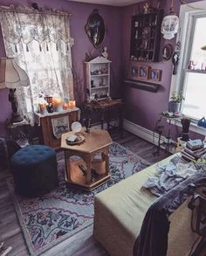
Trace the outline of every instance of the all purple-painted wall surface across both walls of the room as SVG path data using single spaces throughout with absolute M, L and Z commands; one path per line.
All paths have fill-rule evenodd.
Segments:
M 72 63 L 81 78 L 85 78 L 85 53 L 90 51 L 93 52 L 94 57 L 99 55 L 99 50 L 94 50 L 84 30 L 87 17 L 93 9 L 98 9 L 107 24 L 106 38 L 101 46 L 106 45 L 108 47 L 109 59 L 112 60 L 111 94 L 113 97 L 120 97 L 120 95 L 122 95 L 126 99 L 125 118 L 127 120 L 141 125 L 144 128 L 150 130 L 154 129 L 155 122 L 159 118 L 160 113 L 168 108 L 169 87 L 173 66 L 171 59 L 158 63 L 132 62 L 129 60 L 131 16 L 139 13 L 144 3 L 136 3 L 120 8 L 99 4 L 68 2 L 65 0 L 13 0 L 10 1 L 10 4 L 11 2 L 15 5 L 21 3 L 29 6 L 31 6 L 31 3 L 36 2 L 39 7 L 43 9 L 62 9 L 72 13 L 71 35 L 75 42 L 72 47 Z M 150 5 L 155 7 L 157 2 L 159 2 L 159 0 L 150 1 Z M 188 0 L 188 2 L 191 1 Z M 195 0 L 193 2 L 195 2 Z M 161 0 L 160 8 L 165 10 L 165 14 L 168 13 L 170 3 L 170 0 Z M 8 1 L 0 0 L 0 4 L 8 5 Z M 175 1 L 176 13 L 179 13 L 179 8 L 179 1 Z M 161 37 L 161 48 L 168 43 L 175 45 L 175 38 L 168 41 Z M 0 36 L 0 57 L 4 56 L 3 38 Z M 126 87 L 122 81 L 127 77 L 131 65 L 146 65 L 161 69 L 161 90 L 157 93 L 150 93 Z M 7 118 L 10 118 L 10 102 L 7 99 L 8 90 L 0 90 L 0 102 L 1 106 L 3 106 L 0 108 L 0 124 Z M 179 135 L 180 132 L 181 128 L 174 128 L 175 135 Z M 2 134 L 3 129 L 0 126 L 0 135 Z

